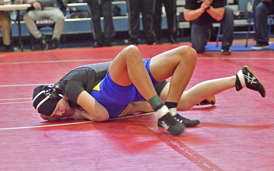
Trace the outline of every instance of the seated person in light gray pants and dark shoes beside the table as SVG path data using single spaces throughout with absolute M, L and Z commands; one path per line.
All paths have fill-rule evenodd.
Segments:
M 45 40 L 45 36 L 40 33 L 34 21 L 41 18 L 49 18 L 54 20 L 55 26 L 52 34 L 52 48 L 60 48 L 58 40 L 63 32 L 64 27 L 64 14 L 56 7 L 55 0 L 16 0 L 16 4 L 31 4 L 32 7 L 24 14 L 23 19 L 26 23 L 30 33 L 40 41 L 41 49 L 47 50 L 48 44 Z

